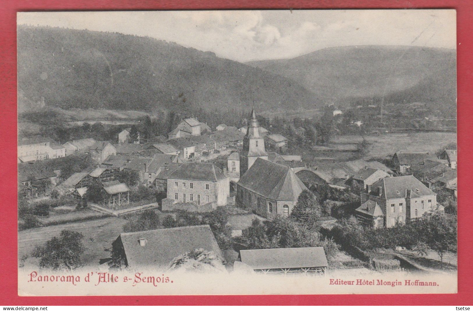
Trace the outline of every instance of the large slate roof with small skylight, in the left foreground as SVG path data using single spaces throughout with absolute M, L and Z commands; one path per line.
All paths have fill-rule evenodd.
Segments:
M 140 246 L 140 239 L 146 239 L 145 246 Z M 115 242 L 120 241 L 133 268 L 166 267 L 175 257 L 198 248 L 214 251 L 225 260 L 209 225 L 122 233 Z

